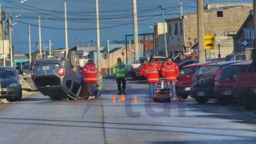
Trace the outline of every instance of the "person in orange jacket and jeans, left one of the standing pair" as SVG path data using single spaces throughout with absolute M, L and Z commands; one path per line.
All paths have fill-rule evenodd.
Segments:
M 158 82 L 160 82 L 159 70 L 160 65 L 155 62 L 153 56 L 150 56 L 148 63 L 145 63 L 142 67 L 141 75 L 146 77 L 150 84 L 150 100 L 154 100 L 156 98 L 156 88 L 158 86 Z

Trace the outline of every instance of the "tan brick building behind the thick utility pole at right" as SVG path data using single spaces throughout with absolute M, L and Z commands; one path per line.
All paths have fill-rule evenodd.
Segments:
M 221 57 L 234 52 L 234 40 L 242 26 L 250 6 L 242 6 L 229 3 L 209 7 L 205 10 L 205 35 L 215 35 L 215 49 L 207 50 L 208 58 L 217 58 L 219 48 Z M 178 52 L 189 52 L 190 47 L 198 43 L 198 22 L 197 13 L 186 14 L 178 18 L 167 19 L 167 43 L 168 55 L 173 56 Z M 193 50 L 197 52 L 197 50 Z

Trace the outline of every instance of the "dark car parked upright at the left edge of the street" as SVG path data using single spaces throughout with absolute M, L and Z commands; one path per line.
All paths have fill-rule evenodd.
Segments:
M 14 67 L 0 67 L 0 98 L 8 101 L 22 99 L 22 86 L 18 72 Z

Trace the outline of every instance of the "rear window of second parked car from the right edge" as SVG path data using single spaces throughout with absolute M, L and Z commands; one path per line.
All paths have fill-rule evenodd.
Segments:
M 233 77 L 235 73 L 242 73 L 244 72 L 245 66 L 244 65 L 233 65 L 224 67 L 221 70 L 221 74 L 219 75 L 220 78 L 228 78 Z

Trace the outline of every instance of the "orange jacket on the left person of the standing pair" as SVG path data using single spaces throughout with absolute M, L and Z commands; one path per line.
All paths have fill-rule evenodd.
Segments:
M 144 64 L 140 74 L 148 79 L 148 83 L 155 83 L 160 81 L 159 70 L 160 66 L 158 63 L 156 63 L 155 65 Z

